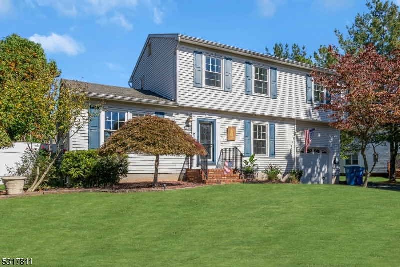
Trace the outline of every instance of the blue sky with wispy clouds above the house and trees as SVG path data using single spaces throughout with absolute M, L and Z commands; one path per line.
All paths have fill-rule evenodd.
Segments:
M 399 0 L 400 1 L 400 0 Z M 0 37 L 42 44 L 63 78 L 127 87 L 148 34 L 181 33 L 264 53 L 337 44 L 366 0 L 0 0 Z M 83 77 L 83 78 L 82 78 Z

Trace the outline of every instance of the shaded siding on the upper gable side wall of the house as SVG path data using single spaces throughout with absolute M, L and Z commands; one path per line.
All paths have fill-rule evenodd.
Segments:
M 175 38 L 150 38 L 151 55 L 148 46 L 137 63 L 132 77 L 132 86 L 141 89 L 140 79 L 144 78 L 144 89 L 151 90 L 168 99 L 175 96 Z

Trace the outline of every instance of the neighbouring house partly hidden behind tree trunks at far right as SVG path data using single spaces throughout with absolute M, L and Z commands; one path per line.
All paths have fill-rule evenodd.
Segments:
M 387 177 L 387 162 L 390 161 L 390 144 L 387 142 L 378 145 L 376 148 L 377 158 L 375 158 L 373 154 L 373 148 L 371 145 L 368 145 L 367 150 L 365 151 L 366 160 L 368 161 L 368 168 L 371 170 L 374 160 L 376 161 L 375 168 L 373 169 L 373 176 L 385 176 Z M 400 150 L 399 150 L 400 152 Z M 342 159 L 340 162 L 340 173 L 345 175 L 344 166 L 358 165 L 364 166 L 364 159 L 361 154 L 351 155 L 348 159 Z

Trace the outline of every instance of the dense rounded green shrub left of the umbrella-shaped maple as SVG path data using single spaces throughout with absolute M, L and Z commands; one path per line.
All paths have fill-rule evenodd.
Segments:
M 125 178 L 128 165 L 127 155 L 102 157 L 91 149 L 66 152 L 60 170 L 71 186 L 106 186 Z

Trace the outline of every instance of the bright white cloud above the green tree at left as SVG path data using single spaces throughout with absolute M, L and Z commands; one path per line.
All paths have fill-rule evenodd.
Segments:
M 46 53 L 66 53 L 68 56 L 75 56 L 85 51 L 82 44 L 66 34 L 57 35 L 51 33 L 49 36 L 34 34 L 29 37 L 29 40 L 40 43 Z

